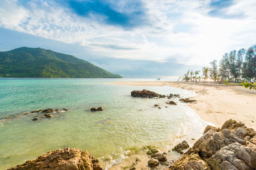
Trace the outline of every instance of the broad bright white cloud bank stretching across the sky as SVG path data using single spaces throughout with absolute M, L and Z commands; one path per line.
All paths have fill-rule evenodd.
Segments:
M 144 1 L 150 25 L 125 30 L 78 17 L 67 7 L 31 1 L 26 8 L 14 0 L 1 0 L 0 26 L 65 43 L 89 46 L 103 56 L 175 60 L 204 65 L 225 52 L 255 43 L 256 2 L 234 1 L 225 9 L 242 18 L 210 17 L 210 1 Z M 124 1 L 118 3 L 125 9 Z

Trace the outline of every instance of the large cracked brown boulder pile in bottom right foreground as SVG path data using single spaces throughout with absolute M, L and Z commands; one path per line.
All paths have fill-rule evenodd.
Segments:
M 256 132 L 228 120 L 221 129 L 207 126 L 204 134 L 169 169 L 256 169 Z

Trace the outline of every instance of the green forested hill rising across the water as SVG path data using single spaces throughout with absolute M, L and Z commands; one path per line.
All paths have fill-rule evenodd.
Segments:
M 0 52 L 1 77 L 122 78 L 72 55 L 21 47 Z

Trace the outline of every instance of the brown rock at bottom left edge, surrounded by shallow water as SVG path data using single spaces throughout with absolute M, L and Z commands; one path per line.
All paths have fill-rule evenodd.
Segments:
M 28 160 L 25 164 L 9 170 L 23 169 L 70 169 L 70 170 L 102 170 L 99 160 L 95 159 L 86 150 L 81 152 L 77 148 L 64 148 L 41 155 L 37 159 Z

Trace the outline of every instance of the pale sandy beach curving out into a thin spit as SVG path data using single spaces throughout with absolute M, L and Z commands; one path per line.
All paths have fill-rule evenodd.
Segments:
M 196 92 L 196 103 L 188 106 L 198 113 L 202 120 L 211 122 L 216 127 L 228 119 L 241 121 L 248 127 L 256 128 L 256 90 L 249 90 L 237 85 L 216 83 L 195 83 L 184 81 L 118 81 L 114 85 L 129 86 L 172 86 Z

